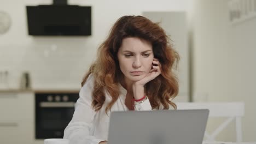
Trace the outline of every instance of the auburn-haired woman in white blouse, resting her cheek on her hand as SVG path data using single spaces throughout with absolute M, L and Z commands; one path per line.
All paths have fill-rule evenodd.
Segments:
M 179 59 L 164 30 L 143 16 L 123 16 L 98 49 L 82 82 L 64 138 L 75 143 L 107 143 L 111 111 L 176 109 L 172 68 Z

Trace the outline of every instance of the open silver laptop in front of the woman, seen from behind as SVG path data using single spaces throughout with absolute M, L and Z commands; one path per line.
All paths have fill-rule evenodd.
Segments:
M 201 144 L 208 113 L 205 109 L 112 112 L 108 144 Z

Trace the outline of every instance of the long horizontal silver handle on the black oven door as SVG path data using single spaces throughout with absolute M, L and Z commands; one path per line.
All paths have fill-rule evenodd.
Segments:
M 40 107 L 74 107 L 74 102 L 40 102 Z

